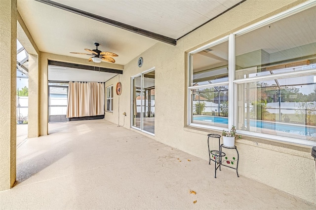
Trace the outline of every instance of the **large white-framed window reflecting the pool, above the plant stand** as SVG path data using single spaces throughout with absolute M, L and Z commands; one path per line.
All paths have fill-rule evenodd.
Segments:
M 316 145 L 315 17 L 305 3 L 189 53 L 189 125 Z M 221 64 L 203 68 L 205 53 Z

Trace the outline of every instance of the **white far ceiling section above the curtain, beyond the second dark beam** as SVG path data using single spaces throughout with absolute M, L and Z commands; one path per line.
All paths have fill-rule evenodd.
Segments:
M 116 76 L 115 73 L 95 70 L 81 70 L 67 67 L 48 66 L 48 80 L 49 81 L 78 81 L 78 82 L 106 82 L 112 77 Z

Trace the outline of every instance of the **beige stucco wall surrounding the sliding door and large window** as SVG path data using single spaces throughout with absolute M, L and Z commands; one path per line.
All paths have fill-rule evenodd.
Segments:
M 137 66 L 138 57 L 125 65 L 119 78 L 122 83 L 119 103 L 118 96 L 114 94 L 115 110 L 113 113 L 106 113 L 106 119 L 118 123 L 119 117 L 119 124 L 122 125 L 122 112 L 125 111 L 127 116 L 124 127 L 130 128 L 130 78 L 155 67 L 155 139 L 208 160 L 206 134 L 220 132 L 186 126 L 186 52 L 302 2 L 304 0 L 247 0 L 181 38 L 176 46 L 157 43 L 138 56 L 144 58 L 143 67 Z M 118 78 L 115 77 L 106 86 L 113 84 L 115 88 L 117 82 Z M 211 147 L 216 148 L 217 143 L 217 140 L 213 140 Z M 240 154 L 240 175 L 316 203 L 316 173 L 311 147 L 253 137 L 243 137 L 237 140 L 236 145 Z M 209 167 L 207 162 L 205 167 Z

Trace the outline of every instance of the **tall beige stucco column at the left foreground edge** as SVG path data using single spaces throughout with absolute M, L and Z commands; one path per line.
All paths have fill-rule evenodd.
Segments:
M 16 177 L 16 0 L 0 3 L 0 190 Z

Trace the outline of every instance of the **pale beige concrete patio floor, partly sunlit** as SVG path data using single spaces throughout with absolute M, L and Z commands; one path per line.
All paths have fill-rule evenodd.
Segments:
M 235 170 L 214 178 L 213 162 L 106 120 L 49 124 L 49 133 L 18 147 L 1 210 L 316 209 Z

